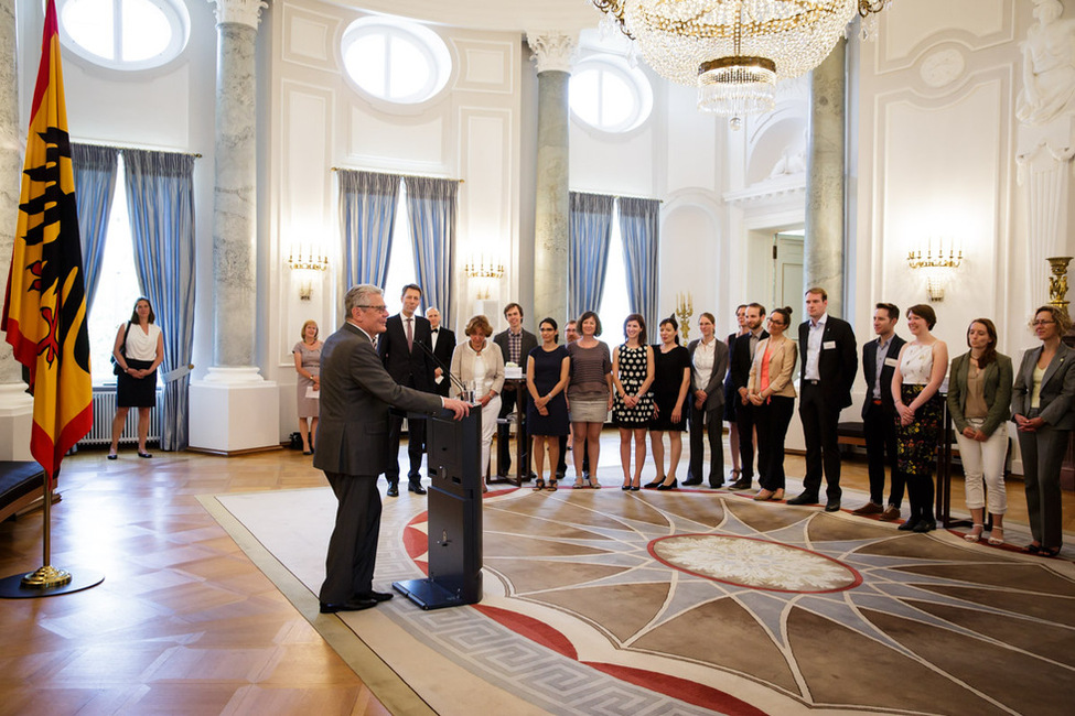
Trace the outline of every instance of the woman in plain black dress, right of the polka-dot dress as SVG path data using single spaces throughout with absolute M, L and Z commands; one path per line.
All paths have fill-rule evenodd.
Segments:
M 675 316 L 660 322 L 660 345 L 654 350 L 653 420 L 649 421 L 649 440 L 653 462 L 657 465 L 657 479 L 646 484 L 658 490 L 679 487 L 676 468 L 684 452 L 684 431 L 687 430 L 687 393 L 690 392 L 690 352 L 679 345 L 679 323 Z M 668 433 L 670 446 L 668 471 L 665 473 L 664 435 Z M 667 477 L 666 477 L 667 475 Z

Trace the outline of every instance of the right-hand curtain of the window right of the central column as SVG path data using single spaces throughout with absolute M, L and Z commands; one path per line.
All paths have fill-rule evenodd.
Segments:
M 647 326 L 656 326 L 660 202 L 621 198 L 620 236 L 623 237 L 623 264 L 627 273 L 631 312 L 641 313 Z

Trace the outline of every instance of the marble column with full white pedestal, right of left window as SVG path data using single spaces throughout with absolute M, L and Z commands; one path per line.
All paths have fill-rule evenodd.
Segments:
M 257 34 L 261 0 L 216 3 L 213 362 L 191 381 L 191 448 L 280 447 L 280 395 L 255 364 L 257 327 Z

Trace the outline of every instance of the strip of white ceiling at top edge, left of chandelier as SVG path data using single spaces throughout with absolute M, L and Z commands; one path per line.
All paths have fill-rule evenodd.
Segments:
M 336 4 L 458 28 L 504 31 L 595 28 L 601 12 L 590 0 L 333 0 Z

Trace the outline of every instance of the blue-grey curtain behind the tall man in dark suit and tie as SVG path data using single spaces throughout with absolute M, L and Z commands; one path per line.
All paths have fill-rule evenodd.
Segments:
M 408 176 L 404 181 L 422 311 L 436 306 L 444 325 L 451 326 L 459 182 L 427 176 Z

